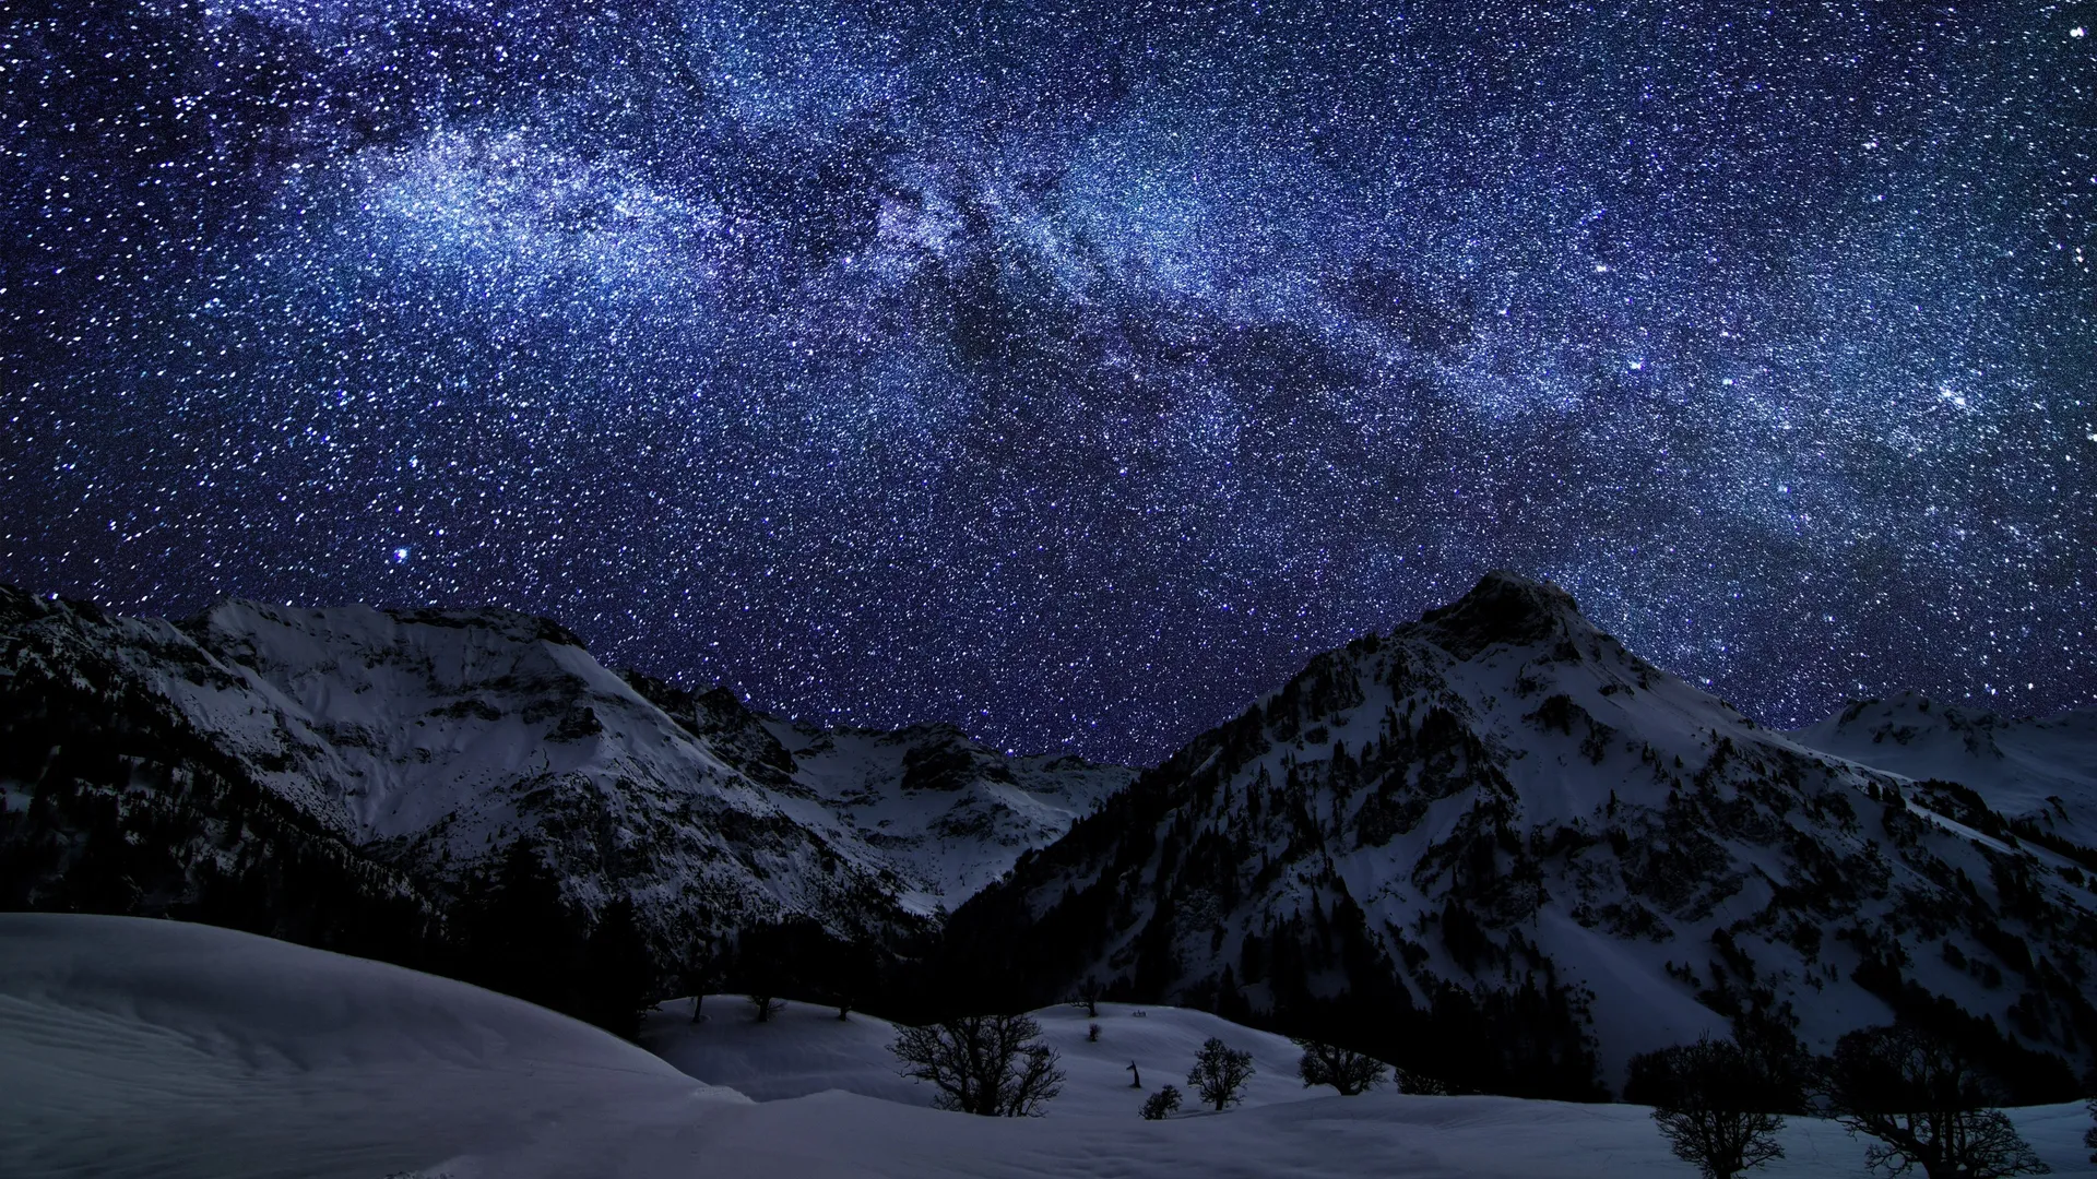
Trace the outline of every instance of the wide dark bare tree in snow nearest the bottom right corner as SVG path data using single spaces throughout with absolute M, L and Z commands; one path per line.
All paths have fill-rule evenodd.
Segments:
M 1864 1164 L 1929 1179 L 2007 1179 L 2053 1171 L 2017 1137 L 1967 1053 L 1931 1032 L 1862 1028 L 1835 1043 L 1826 1106 L 1850 1133 L 1879 1139 Z

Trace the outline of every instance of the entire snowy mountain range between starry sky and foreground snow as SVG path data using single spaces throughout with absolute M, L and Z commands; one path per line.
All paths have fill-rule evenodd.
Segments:
M 44 688 L 78 715 L 38 711 Z M 2097 1045 L 2097 852 L 2084 793 L 2059 791 L 2097 772 L 2078 713 L 1969 713 L 1900 699 L 1768 730 L 1508 571 L 1309 659 L 1141 774 L 939 722 L 797 724 L 606 669 L 514 610 L 229 600 L 166 623 L 0 590 L 0 845 L 31 852 L 10 906 L 392 955 L 413 948 L 371 929 L 415 927 L 428 955 L 524 850 L 585 931 L 631 904 L 658 984 L 694 955 L 749 969 L 749 929 L 803 923 L 874 948 L 849 969 L 797 950 L 818 988 L 931 1011 L 1093 984 L 1353 1022 L 1415 1072 L 1510 1093 L 1596 1097 L 1631 1053 L 1743 1020 L 1824 1047 L 1944 1005 L 1927 1017 L 2057 1080 Z M 52 724 L 67 749 L 143 736 L 67 768 Z M 1973 732 L 2022 753 L 1990 762 Z M 2001 772 L 1873 764 L 1946 741 Z M 185 801 L 208 778 L 235 785 Z M 237 887 L 214 875 L 252 827 L 336 864 L 356 929 L 294 904 L 298 881 L 252 883 L 252 858 Z M 182 852 L 109 866 L 145 829 Z

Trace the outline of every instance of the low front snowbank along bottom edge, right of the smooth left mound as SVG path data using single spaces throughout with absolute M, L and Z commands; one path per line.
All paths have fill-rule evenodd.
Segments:
M 2055 1175 L 2093 1175 L 2082 1106 L 2017 1110 Z M 763 1101 L 709 1118 L 711 1145 L 749 1179 L 1690 1179 L 1646 1110 L 1512 1097 L 1311 1097 L 1166 1122 L 971 1118 L 853 1093 Z M 1757 1179 L 1860 1175 L 1864 1148 L 1793 1120 L 1787 1158 Z M 841 1162 L 849 1160 L 849 1162 Z

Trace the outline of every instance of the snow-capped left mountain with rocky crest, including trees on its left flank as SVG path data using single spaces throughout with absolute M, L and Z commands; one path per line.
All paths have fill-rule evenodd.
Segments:
M 797 728 L 619 676 L 507 610 L 220 602 L 166 623 L 0 590 L 0 642 L 8 839 L 42 864 L 15 881 L 29 902 L 94 875 L 80 858 L 101 852 L 59 812 L 96 795 L 107 839 L 136 845 L 132 816 L 157 816 L 151 843 L 189 845 L 159 873 L 174 904 L 241 854 L 229 833 L 262 806 L 426 904 L 522 841 L 581 908 L 631 898 L 658 942 L 795 917 L 887 940 L 1130 776 L 952 728 Z M 126 764 L 82 778 L 65 755 L 96 747 Z M 239 797 L 208 824 L 161 814 L 206 768 Z

